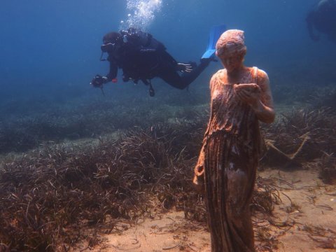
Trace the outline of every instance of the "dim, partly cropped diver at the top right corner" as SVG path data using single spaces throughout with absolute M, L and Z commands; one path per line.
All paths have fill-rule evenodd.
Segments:
M 318 41 L 319 36 L 314 34 L 314 28 L 328 35 L 330 41 L 336 43 L 336 0 L 321 0 L 306 18 L 309 36 Z

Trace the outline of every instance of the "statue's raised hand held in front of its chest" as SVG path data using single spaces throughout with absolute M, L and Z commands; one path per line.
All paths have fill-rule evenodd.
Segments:
M 235 94 L 242 102 L 246 102 L 251 106 L 254 106 L 259 102 L 261 90 L 258 84 L 235 84 L 233 87 Z

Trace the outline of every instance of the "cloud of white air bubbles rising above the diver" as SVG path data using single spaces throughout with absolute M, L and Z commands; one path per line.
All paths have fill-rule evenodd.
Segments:
M 127 0 L 127 20 L 120 23 L 121 29 L 135 27 L 146 30 L 153 22 L 155 14 L 160 12 L 162 0 Z

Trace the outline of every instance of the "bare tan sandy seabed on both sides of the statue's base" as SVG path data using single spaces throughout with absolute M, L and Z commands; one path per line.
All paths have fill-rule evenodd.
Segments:
M 256 242 L 257 251 L 336 251 L 336 186 L 325 185 L 316 171 L 308 165 L 293 171 L 259 172 L 263 178 L 288 183 L 276 186 L 281 202 L 274 209 L 277 225 L 270 235 L 278 241 L 277 248 L 265 250 Z M 124 223 L 120 228 L 121 232 L 100 236 L 98 246 L 82 244 L 75 251 L 211 251 L 206 225 L 186 220 L 182 211 L 167 211 L 141 219 L 136 225 Z

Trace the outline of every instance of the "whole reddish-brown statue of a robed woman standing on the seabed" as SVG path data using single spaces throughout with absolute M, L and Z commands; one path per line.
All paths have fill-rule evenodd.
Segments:
M 260 146 L 259 120 L 275 113 L 265 71 L 244 66 L 244 31 L 225 31 L 216 55 L 225 69 L 210 81 L 211 115 L 193 182 L 205 189 L 213 252 L 255 251 L 250 203 Z

